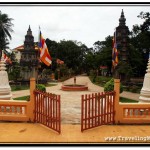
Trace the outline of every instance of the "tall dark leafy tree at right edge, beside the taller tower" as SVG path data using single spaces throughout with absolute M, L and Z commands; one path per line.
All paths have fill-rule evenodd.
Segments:
M 135 76 L 144 76 L 150 52 L 150 13 L 141 12 L 138 18 L 143 20 L 134 25 L 130 33 L 130 62 Z

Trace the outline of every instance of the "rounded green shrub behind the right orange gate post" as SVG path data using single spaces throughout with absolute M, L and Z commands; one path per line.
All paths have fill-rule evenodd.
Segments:
M 114 91 L 114 79 L 113 78 L 105 84 L 104 91 L 105 92 Z M 122 84 L 120 84 L 120 93 L 122 93 L 122 92 L 123 92 L 123 86 L 122 86 Z

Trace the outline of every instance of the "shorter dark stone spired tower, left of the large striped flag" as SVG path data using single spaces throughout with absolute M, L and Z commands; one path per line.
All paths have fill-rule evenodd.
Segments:
M 29 81 L 31 77 L 38 75 L 38 50 L 35 50 L 34 37 L 29 25 L 25 35 L 24 49 L 21 51 L 21 76 L 24 81 Z

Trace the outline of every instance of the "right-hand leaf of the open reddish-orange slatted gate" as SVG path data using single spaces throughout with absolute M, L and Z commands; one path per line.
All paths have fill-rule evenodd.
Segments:
M 81 131 L 114 123 L 115 92 L 82 95 Z

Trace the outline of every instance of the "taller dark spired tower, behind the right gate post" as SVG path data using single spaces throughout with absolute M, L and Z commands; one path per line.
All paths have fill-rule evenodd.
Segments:
M 116 27 L 116 43 L 118 50 L 119 63 L 129 63 L 129 29 L 126 26 L 126 18 L 122 9 L 121 16 L 119 18 L 119 26 Z M 123 81 L 126 80 L 125 73 L 119 73 L 119 78 Z

